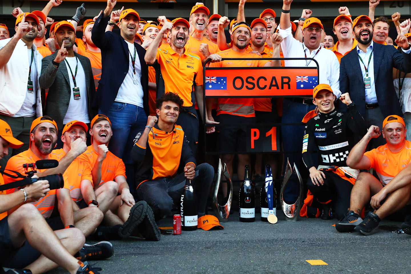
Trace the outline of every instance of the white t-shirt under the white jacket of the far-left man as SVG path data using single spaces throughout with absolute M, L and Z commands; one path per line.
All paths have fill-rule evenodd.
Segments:
M 37 91 L 37 67 L 36 67 L 36 56 L 33 53 L 33 62 L 31 62 L 31 49 L 27 49 L 28 64 L 31 64 L 30 80 L 33 82 L 33 93 L 27 91 L 26 87 L 26 97 L 24 99 L 23 105 L 20 110 L 12 117 L 31 117 L 36 114 L 36 91 Z

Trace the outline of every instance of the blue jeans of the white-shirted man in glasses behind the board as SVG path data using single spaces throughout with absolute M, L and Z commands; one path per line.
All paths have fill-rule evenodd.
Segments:
M 315 108 L 313 104 L 302 104 L 300 102 L 294 102 L 287 98 L 283 101 L 283 115 L 282 123 L 300 123 L 302 118 L 311 110 Z M 307 168 L 302 163 L 302 137 L 304 136 L 304 125 L 282 125 L 281 135 L 284 151 L 295 151 L 296 153 L 284 154 L 284 168 L 287 164 L 287 158 L 290 161 L 291 167 L 294 167 L 294 163 L 300 173 L 306 173 Z M 317 166 L 317 155 L 314 154 L 313 163 Z M 284 200 L 287 203 L 294 203 L 298 198 L 299 182 L 296 176 L 291 176 L 290 181 L 284 190 Z

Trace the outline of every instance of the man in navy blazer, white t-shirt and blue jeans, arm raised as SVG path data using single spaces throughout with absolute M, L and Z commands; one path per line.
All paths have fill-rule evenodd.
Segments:
M 97 18 L 91 39 L 102 51 L 102 76 L 99 80 L 92 106 L 99 114 L 110 118 L 115 135 L 109 149 L 121 158 L 126 166 L 127 182 L 134 191 L 134 168 L 130 151 L 134 137 L 144 128 L 148 115 L 148 66 L 145 50 L 134 43 L 139 29 L 139 14 L 134 9 L 118 11 L 120 35 L 105 32 L 116 0 L 108 0 L 104 12 Z M 107 134 L 104 129 L 101 134 Z

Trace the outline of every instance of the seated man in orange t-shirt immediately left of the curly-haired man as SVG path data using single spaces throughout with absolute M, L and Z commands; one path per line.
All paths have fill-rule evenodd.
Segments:
M 102 114 L 96 115 L 91 122 L 90 134 L 92 145 L 79 159 L 92 168 L 97 201 L 104 203 L 104 222 L 113 226 L 111 230 L 118 228 L 121 237 L 141 233 L 146 240 L 159 241 L 160 230 L 151 208 L 144 201 L 134 202 L 127 184 L 124 163 L 107 148 L 113 135 L 109 118 Z M 115 193 L 115 196 L 111 198 L 110 193 Z

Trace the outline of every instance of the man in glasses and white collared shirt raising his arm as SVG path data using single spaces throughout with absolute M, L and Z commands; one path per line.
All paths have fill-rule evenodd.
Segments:
M 279 24 L 279 34 L 284 38 L 281 43 L 285 58 L 314 58 L 319 64 L 319 79 L 316 83 L 302 83 L 307 88 L 314 88 L 318 84 L 330 85 L 335 96 L 339 98 L 339 62 L 332 51 L 321 48 L 321 33 L 324 28 L 318 18 L 310 17 L 302 25 L 304 42 L 297 41 L 291 34 L 290 7 L 293 0 L 283 0 L 282 13 Z M 313 60 L 285 60 L 286 67 L 316 67 Z M 315 108 L 311 98 L 285 98 L 283 101 L 283 123 L 299 123 L 302 117 Z M 282 126 L 284 151 L 295 151 L 301 145 L 301 136 L 304 133 L 302 125 Z M 296 163 L 299 170 L 301 156 L 296 153 L 286 153 L 284 159 Z M 316 159 L 313 159 L 316 163 Z M 293 203 L 298 196 L 298 182 L 290 180 L 289 187 L 284 192 L 284 200 Z

